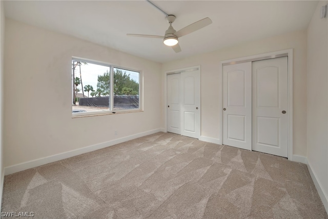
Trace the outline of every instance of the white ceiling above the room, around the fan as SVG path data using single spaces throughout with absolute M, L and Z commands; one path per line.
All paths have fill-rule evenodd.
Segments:
M 179 38 L 175 53 L 162 39 L 127 33 L 164 35 L 165 15 L 147 1 L 5 1 L 7 17 L 76 36 L 156 62 L 217 50 L 242 42 L 303 30 L 318 1 L 152 1 L 179 30 L 204 17 L 213 24 Z M 318 15 L 319 16 L 319 15 Z

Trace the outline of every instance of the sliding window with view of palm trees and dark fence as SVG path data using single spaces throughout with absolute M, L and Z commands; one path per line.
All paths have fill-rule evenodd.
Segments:
M 73 116 L 138 110 L 139 71 L 72 58 Z

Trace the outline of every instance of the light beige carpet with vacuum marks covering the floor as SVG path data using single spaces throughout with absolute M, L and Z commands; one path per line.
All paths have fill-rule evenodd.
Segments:
M 34 218 L 328 218 L 308 168 L 159 132 L 5 177 Z

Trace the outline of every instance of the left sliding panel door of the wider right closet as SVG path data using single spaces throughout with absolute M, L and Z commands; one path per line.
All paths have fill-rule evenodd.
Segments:
M 223 66 L 222 144 L 252 149 L 252 63 Z

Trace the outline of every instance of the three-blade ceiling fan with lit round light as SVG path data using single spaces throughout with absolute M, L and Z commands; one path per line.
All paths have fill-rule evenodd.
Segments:
M 169 22 L 170 26 L 167 31 L 165 31 L 164 36 L 158 36 L 158 35 L 144 35 L 144 34 L 127 34 L 127 36 L 138 36 L 138 37 L 149 37 L 149 38 L 162 38 L 163 43 L 167 46 L 171 46 L 172 49 L 175 52 L 181 52 L 181 48 L 178 44 L 178 38 L 181 36 L 185 36 L 189 33 L 192 33 L 196 30 L 199 30 L 203 27 L 206 27 L 210 24 L 212 24 L 212 20 L 209 17 L 203 18 L 198 22 L 195 22 L 187 27 L 184 27 L 178 31 L 174 30 L 172 27 L 172 23 L 175 21 L 174 15 L 167 15 L 166 16 L 167 21 Z

